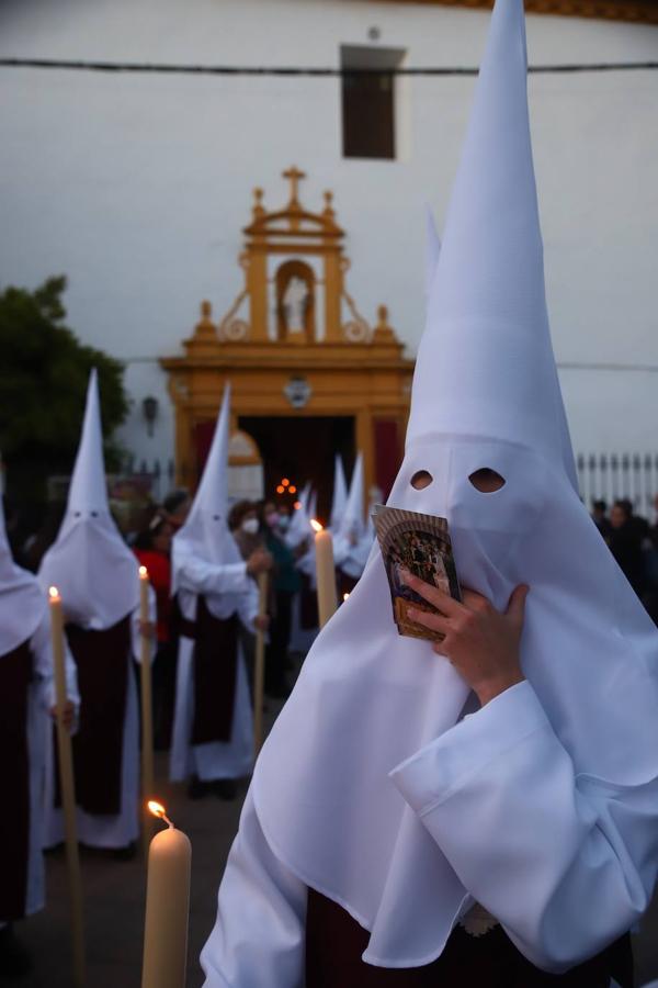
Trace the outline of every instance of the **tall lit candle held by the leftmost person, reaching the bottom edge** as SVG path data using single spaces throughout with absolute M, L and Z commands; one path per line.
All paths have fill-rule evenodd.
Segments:
M 56 586 L 49 590 L 50 636 L 53 642 L 53 666 L 55 671 L 55 697 L 57 710 L 57 754 L 59 761 L 59 787 L 64 813 L 66 841 L 66 863 L 69 879 L 71 910 L 71 936 L 73 946 L 73 985 L 84 984 L 84 924 L 82 920 L 82 880 L 80 877 L 80 855 L 76 826 L 76 786 L 73 782 L 73 757 L 71 736 L 64 722 L 66 689 L 66 649 L 64 644 L 64 610 L 61 597 Z

